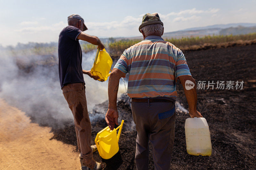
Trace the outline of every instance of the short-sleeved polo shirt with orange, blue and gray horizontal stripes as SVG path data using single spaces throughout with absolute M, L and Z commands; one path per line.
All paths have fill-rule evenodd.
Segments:
M 175 100 L 177 78 L 191 76 L 182 51 L 158 36 L 148 36 L 124 50 L 114 68 L 129 73 L 127 94 L 131 98 Z

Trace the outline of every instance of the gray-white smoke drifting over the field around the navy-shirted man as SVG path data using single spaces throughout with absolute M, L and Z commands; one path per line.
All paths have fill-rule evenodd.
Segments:
M 58 54 L 56 48 L 42 53 L 33 49 L 0 51 L 0 98 L 24 111 L 32 122 L 63 128 L 73 122 L 73 115 L 60 87 Z M 95 55 L 96 50 L 83 54 L 84 70 L 91 69 Z M 88 75 L 84 75 L 84 81 L 88 111 L 92 113 L 96 104 L 108 100 L 108 81 L 96 81 Z M 125 92 L 120 86 L 119 95 Z M 91 121 L 98 117 L 90 114 Z

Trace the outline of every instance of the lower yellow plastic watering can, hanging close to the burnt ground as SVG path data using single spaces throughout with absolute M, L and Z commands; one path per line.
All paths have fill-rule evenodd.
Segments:
M 119 151 L 118 141 L 121 135 L 123 124 L 124 120 L 122 120 L 120 126 L 118 126 L 116 129 L 114 128 L 114 130 L 110 130 L 107 126 L 106 128 L 102 129 L 95 137 L 94 141 L 97 145 L 101 158 L 110 159 Z M 116 136 L 117 129 L 119 129 L 119 131 Z

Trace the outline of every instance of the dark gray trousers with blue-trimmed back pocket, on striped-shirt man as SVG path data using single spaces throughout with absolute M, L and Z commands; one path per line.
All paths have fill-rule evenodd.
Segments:
M 152 144 L 155 169 L 170 169 L 176 117 L 175 102 L 132 102 L 132 116 L 137 130 L 137 169 L 148 169 L 148 141 Z

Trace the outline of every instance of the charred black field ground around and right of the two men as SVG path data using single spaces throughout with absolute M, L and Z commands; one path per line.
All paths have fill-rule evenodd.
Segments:
M 256 169 L 256 45 L 184 51 L 196 82 L 206 81 L 205 89 L 197 90 L 197 109 L 206 118 L 212 139 L 212 156 L 192 156 L 186 152 L 184 124 L 188 114 L 177 111 L 172 169 Z M 244 81 L 243 89 L 206 89 L 208 81 Z M 234 85 L 235 87 L 235 85 Z M 225 86 L 226 88 L 226 86 Z M 188 109 L 180 84 L 178 101 Z M 107 108 L 107 102 L 96 106 Z M 119 141 L 119 152 L 107 162 L 108 169 L 136 169 L 134 162 L 136 131 L 129 129 L 132 121 L 127 98 L 118 102 L 119 122 L 125 120 Z M 97 132 L 106 127 L 104 119 L 92 122 L 92 143 Z M 73 125 L 54 129 L 54 137 L 76 145 Z M 101 161 L 98 152 L 94 158 Z M 152 152 L 149 169 L 153 169 Z

